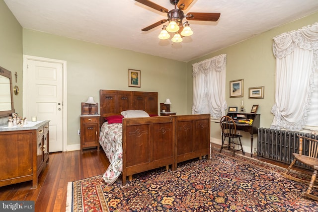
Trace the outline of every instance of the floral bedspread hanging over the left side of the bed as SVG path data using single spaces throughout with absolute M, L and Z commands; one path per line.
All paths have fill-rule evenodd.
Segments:
M 122 124 L 104 122 L 100 128 L 99 143 L 110 162 L 103 179 L 107 184 L 114 183 L 121 174 L 123 167 Z

